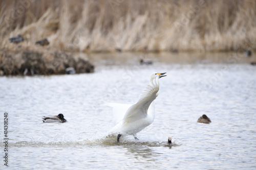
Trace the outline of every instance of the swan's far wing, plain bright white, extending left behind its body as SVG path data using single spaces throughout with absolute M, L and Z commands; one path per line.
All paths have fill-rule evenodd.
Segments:
M 132 106 L 132 104 L 120 104 L 120 103 L 106 103 L 104 106 L 110 106 L 113 108 L 113 118 L 115 123 L 121 122 L 126 111 Z

